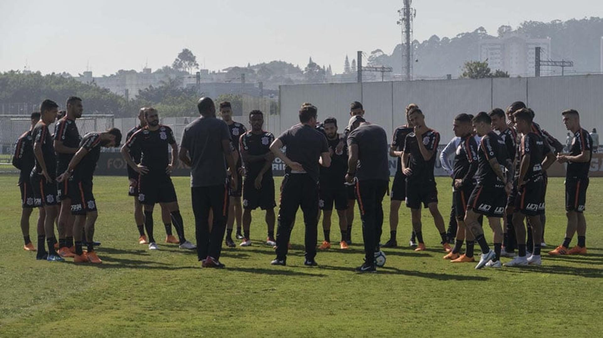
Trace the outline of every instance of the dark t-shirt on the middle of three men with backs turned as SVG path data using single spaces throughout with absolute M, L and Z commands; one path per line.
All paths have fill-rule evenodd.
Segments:
M 318 158 L 321 153 L 329 152 L 324 134 L 306 124 L 297 124 L 280 134 L 279 140 L 287 147 L 287 157 L 301 164 L 306 173 L 318 182 Z M 291 168 L 287 167 L 285 173 L 291 173 Z

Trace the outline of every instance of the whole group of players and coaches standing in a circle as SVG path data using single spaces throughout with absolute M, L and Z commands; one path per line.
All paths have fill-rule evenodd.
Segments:
M 592 140 L 581 128 L 579 114 L 573 109 L 561 113 L 566 128 L 574 134 L 569 154 L 560 152 L 561 144 L 534 122 L 534 111 L 523 102 L 514 102 L 506 112 L 497 108 L 475 116 L 457 115 L 453 120 L 455 138 L 447 146 L 450 152 L 444 151 L 453 188 L 450 226 L 446 232 L 434 177 L 440 134 L 426 125 L 426 114 L 417 105 L 408 105 L 407 123 L 394 131 L 389 149 L 389 156 L 398 158 L 398 163 L 391 191 L 391 236 L 384 245 L 380 245 L 380 238 L 382 200 L 389 180 L 387 140 L 382 127 L 367 122 L 362 103 L 350 105 L 351 118 L 342 134 L 338 133 L 335 118 L 318 123 L 318 109 L 304 103 L 299 111 L 300 124 L 276 138 L 264 131 L 264 115 L 259 110 L 248 114 L 251 129 L 247 130 L 244 124 L 232 120 L 229 102 L 219 103 L 222 120 L 216 118 L 215 105 L 207 97 L 199 100 L 198 109 L 201 116 L 185 128 L 180 150 L 172 129 L 159 123 L 159 114 L 152 107 L 140 109 L 140 123 L 128 132 L 121 147 L 128 164 L 128 194 L 134 197 L 138 241 L 148 244 L 150 250 L 159 249 L 153 232 L 154 204 L 159 203 L 165 241 L 183 249 L 197 248 L 202 266 L 221 268 L 224 265 L 219 262 L 219 247 L 224 233 L 227 247 L 235 247 L 232 232 L 236 223 L 239 245 L 251 245 L 251 210 L 260 207 L 265 211 L 267 224 L 265 243 L 276 249 L 272 264 L 286 265 L 295 213 L 301 207 L 306 238 L 304 263 L 316 266 L 320 210 L 324 241 L 318 249 L 330 248 L 334 206 L 341 232 L 339 247 L 345 250 L 351 244 L 353 209 L 358 204 L 365 260 L 356 271 L 374 272 L 374 257 L 380 253 L 380 247 L 397 247 L 399 208 L 404 200 L 411 209 L 411 247 L 415 251 L 426 250 L 421 223 L 421 208 L 425 207 L 440 233 L 440 244 L 447 253 L 444 259 L 454 263 L 475 262 L 473 248 L 477 242 L 482 251 L 478 269 L 500 268 L 502 256 L 513 258 L 505 263 L 507 266 L 540 265 L 546 220 L 546 169 L 558 161 L 567 163 L 567 231 L 563 244 L 549 254 L 587 252 L 583 212 Z M 75 121 L 82 112 L 82 100 L 69 97 L 64 117 L 57 120 L 57 103 L 45 100 L 40 112 L 31 115 L 30 130 L 16 143 L 13 164 L 21 170 L 24 249 L 37 251 L 37 259 L 57 262 L 73 257 L 74 262 L 102 262 L 94 250 L 99 243 L 93 241 L 97 217 L 93 172 L 100 147 L 118 147 L 121 132 L 112 128 L 81 137 Z M 55 131 L 51 135 L 48 125 L 53 122 Z M 274 212 L 275 157 L 286 164 L 278 218 Z M 191 167 L 199 247 L 185 238 L 171 181 L 179 159 Z M 34 207 L 40 210 L 37 250 L 29 236 L 29 218 Z M 494 250 L 485 239 L 482 218 L 487 219 L 492 229 Z M 505 220 L 502 227 L 501 218 Z M 172 225 L 178 238 L 172 235 Z M 575 232 L 578 245 L 570 248 Z M 461 254 L 464 242 L 467 247 Z

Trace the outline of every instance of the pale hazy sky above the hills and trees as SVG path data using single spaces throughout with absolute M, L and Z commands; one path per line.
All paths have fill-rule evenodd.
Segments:
M 171 64 L 182 48 L 210 70 L 308 57 L 341 72 L 346 54 L 387 54 L 400 43 L 402 1 L 13 1 L 0 0 L 0 72 L 95 76 Z M 484 26 L 603 16 L 600 0 L 414 0 L 414 38 L 453 37 Z

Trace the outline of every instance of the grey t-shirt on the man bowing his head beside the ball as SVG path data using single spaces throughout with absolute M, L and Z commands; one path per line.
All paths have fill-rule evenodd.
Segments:
M 358 145 L 358 180 L 390 180 L 387 134 L 377 124 L 361 124 L 347 135 L 348 149 Z

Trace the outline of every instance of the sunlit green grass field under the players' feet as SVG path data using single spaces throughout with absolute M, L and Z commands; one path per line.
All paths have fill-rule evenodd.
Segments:
M 442 259 L 439 235 L 425 215 L 428 250 L 385 249 L 386 267 L 368 275 L 353 272 L 364 255 L 358 215 L 355 244 L 345 252 L 318 253 L 317 268 L 303 266 L 300 212 L 286 267 L 270 265 L 274 250 L 262 244 L 259 210 L 253 214 L 253 246 L 225 248 L 226 269 L 201 269 L 196 253 L 176 245 L 150 252 L 136 242 L 125 177 L 95 177 L 102 265 L 36 261 L 22 250 L 16 181 L 0 176 L 0 336 L 579 337 L 603 328 L 603 179 L 592 179 L 589 187 L 588 256 L 545 254 L 543 266 L 522 269 L 452 265 Z M 194 239 L 189 179 L 176 177 L 174 183 L 188 238 Z M 438 183 L 446 219 L 450 182 Z M 564 237 L 563 195 L 563 179 L 550 179 L 546 251 Z M 383 241 L 389 232 L 387 197 L 385 205 Z M 159 215 L 156 237 L 163 239 L 157 220 Z M 405 207 L 400 220 L 398 241 L 406 245 L 411 226 Z M 489 228 L 485 232 L 491 238 Z M 320 226 L 318 234 L 321 240 Z M 35 241 L 35 226 L 31 235 Z M 335 228 L 332 239 L 339 239 Z

